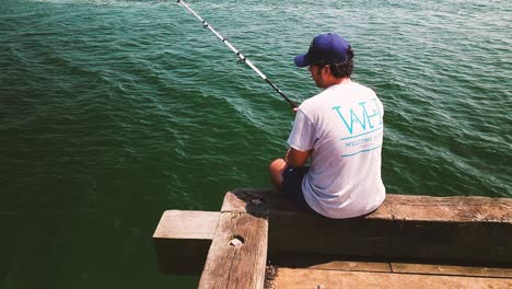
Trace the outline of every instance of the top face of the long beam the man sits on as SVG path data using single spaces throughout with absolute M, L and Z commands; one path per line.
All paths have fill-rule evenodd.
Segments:
M 225 203 L 225 200 L 229 200 Z M 247 211 L 263 200 L 270 215 L 307 213 L 269 189 L 236 188 L 224 197 L 223 211 Z M 364 219 L 441 222 L 512 222 L 512 198 L 431 197 L 387 194 L 383 205 Z

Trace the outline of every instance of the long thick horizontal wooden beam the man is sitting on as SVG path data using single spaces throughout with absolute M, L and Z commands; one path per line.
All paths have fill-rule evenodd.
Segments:
M 270 190 L 241 188 L 225 195 L 222 210 L 265 208 L 271 254 L 512 263 L 512 199 L 387 195 L 368 216 L 334 220 L 298 210 Z

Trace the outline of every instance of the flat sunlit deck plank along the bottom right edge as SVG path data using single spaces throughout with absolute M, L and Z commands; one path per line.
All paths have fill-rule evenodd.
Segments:
M 512 288 L 512 279 L 279 268 L 271 288 L 490 289 Z

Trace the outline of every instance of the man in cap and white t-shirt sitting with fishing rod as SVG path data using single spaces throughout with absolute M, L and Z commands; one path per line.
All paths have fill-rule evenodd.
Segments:
M 324 90 L 299 106 L 290 148 L 269 167 L 277 190 L 335 219 L 369 213 L 385 198 L 384 108 L 373 90 L 350 80 L 352 58 L 350 45 L 335 34 L 316 36 L 307 53 L 295 57 Z

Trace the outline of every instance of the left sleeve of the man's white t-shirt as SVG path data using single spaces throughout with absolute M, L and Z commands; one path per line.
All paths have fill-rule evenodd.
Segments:
M 295 115 L 293 128 L 288 138 L 288 144 L 300 151 L 309 151 L 313 149 L 316 139 L 316 129 L 311 119 L 299 109 Z

